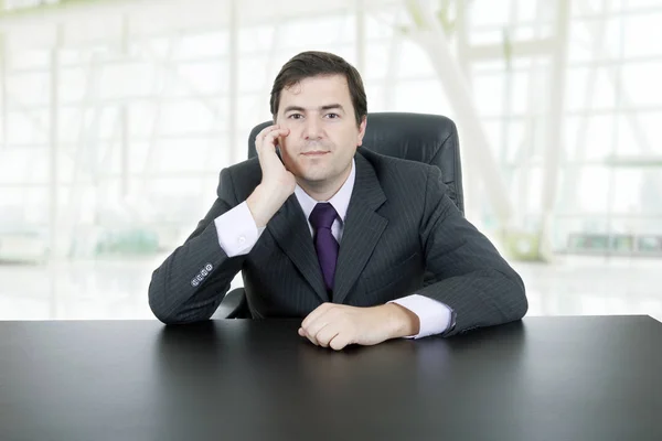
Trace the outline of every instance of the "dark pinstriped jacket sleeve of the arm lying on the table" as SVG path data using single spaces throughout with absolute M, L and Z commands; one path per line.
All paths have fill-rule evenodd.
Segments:
M 524 316 L 524 282 L 446 195 L 437 168 L 428 172 L 420 240 L 436 282 L 418 293 L 453 311 L 455 325 L 446 336 Z

